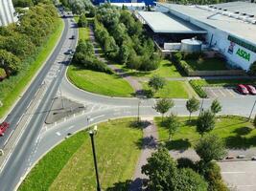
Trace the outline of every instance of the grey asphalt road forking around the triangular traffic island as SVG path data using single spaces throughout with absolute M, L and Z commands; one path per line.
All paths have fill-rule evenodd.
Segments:
M 70 19 L 64 19 L 64 22 L 65 29 L 55 52 L 51 55 L 41 73 L 36 77 L 35 81 L 28 89 L 28 91 L 36 92 L 39 85 L 41 85 L 43 81 L 46 81 L 47 92 L 42 96 L 41 100 L 38 101 L 39 105 L 35 114 L 31 117 L 27 128 L 1 171 L 1 191 L 15 190 L 20 181 L 25 177 L 26 173 L 28 173 L 33 167 L 36 160 L 41 158 L 42 155 L 44 155 L 54 145 L 58 144 L 58 142 L 65 138 L 68 133 L 75 133 L 91 124 L 98 123 L 109 118 L 136 117 L 138 115 L 139 99 L 98 96 L 87 93 L 76 88 L 70 84 L 66 77 L 63 77 L 66 72 L 67 63 L 70 59 L 70 57 L 64 53 L 70 48 L 74 49 L 76 46 L 76 41 L 71 41 L 69 37 L 74 33 L 76 36 L 78 35 L 78 30 L 74 28 L 74 23 L 70 23 Z M 55 75 L 52 81 L 47 82 L 47 73 L 59 59 L 62 59 L 65 62 L 62 61 L 62 64 L 59 64 L 58 74 Z M 59 85 L 63 96 L 83 103 L 87 106 L 87 110 L 81 115 L 70 117 L 55 125 L 46 126 L 44 125 L 44 119 L 47 111 L 51 108 L 52 100 L 57 95 Z M 30 96 L 30 92 L 25 93 L 24 98 L 22 98 L 24 101 L 29 100 L 29 98 L 26 98 L 26 94 L 27 96 Z M 221 98 L 221 114 L 248 116 L 254 100 L 255 98 L 253 96 L 246 98 Z M 208 108 L 211 101 L 212 100 L 210 99 L 204 99 L 203 108 Z M 159 115 L 152 109 L 154 103 L 154 99 L 141 100 L 139 115 Z M 174 112 L 180 116 L 187 116 L 188 112 L 186 110 L 185 103 L 185 99 L 175 99 L 175 107 L 170 112 Z M 16 113 L 16 116 L 20 114 L 18 110 Z M 195 115 L 198 115 L 198 113 Z M 89 118 L 89 121 L 87 118 Z

